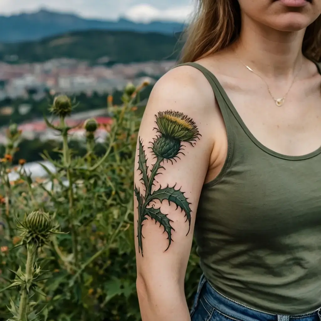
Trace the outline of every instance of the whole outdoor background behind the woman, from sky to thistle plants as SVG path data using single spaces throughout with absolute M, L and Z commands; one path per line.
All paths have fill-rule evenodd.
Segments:
M 0 321 L 141 320 L 137 133 L 193 10 L 0 1 Z M 193 246 L 189 306 L 200 274 Z

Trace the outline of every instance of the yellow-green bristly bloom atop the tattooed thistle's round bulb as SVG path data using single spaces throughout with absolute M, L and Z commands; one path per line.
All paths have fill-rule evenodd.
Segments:
M 192 142 L 200 136 L 195 122 L 178 111 L 160 111 L 156 124 L 161 134 L 181 142 Z

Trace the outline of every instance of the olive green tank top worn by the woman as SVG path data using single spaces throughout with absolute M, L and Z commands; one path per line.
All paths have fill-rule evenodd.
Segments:
M 287 156 L 263 146 L 217 78 L 196 63 L 184 65 L 211 84 L 228 137 L 223 168 L 204 184 L 196 215 L 205 277 L 224 296 L 264 312 L 320 308 L 321 147 Z

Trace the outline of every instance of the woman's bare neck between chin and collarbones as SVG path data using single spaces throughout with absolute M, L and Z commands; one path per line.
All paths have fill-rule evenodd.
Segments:
M 290 78 L 300 68 L 305 30 L 282 32 L 247 19 L 233 50 L 244 64 L 271 78 Z

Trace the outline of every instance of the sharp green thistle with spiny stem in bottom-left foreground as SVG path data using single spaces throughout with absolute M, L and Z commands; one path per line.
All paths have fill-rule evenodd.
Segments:
M 19 222 L 19 221 L 18 221 Z M 11 320 L 14 321 L 30 321 L 34 320 L 37 314 L 34 312 L 34 302 L 30 302 L 30 298 L 35 291 L 41 290 L 38 288 L 39 281 L 43 280 L 40 267 L 36 264 L 38 249 L 45 244 L 49 244 L 50 235 L 60 233 L 58 225 L 48 213 L 42 211 L 33 211 L 25 214 L 22 223 L 19 222 L 17 227 L 21 233 L 21 244 L 27 250 L 27 261 L 25 272 L 19 267 L 17 272 L 13 272 L 16 277 L 12 284 L 7 288 L 20 289 L 19 305 L 16 306 L 11 301 L 10 311 L 13 314 Z

